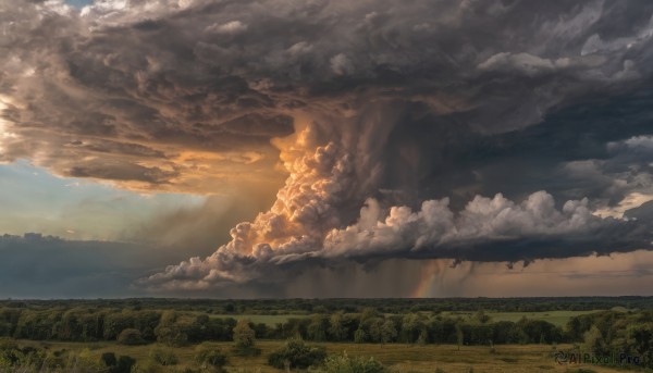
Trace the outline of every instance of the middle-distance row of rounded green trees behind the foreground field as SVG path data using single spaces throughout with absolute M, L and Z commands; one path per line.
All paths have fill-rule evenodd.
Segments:
M 539 320 L 490 322 L 482 311 L 472 320 L 434 313 L 385 315 L 374 309 L 291 318 L 274 326 L 249 323 L 258 339 L 300 337 L 315 341 L 406 344 L 530 344 L 559 343 L 568 335 Z M 232 340 L 236 320 L 206 313 L 153 310 L 29 310 L 0 309 L 0 337 L 34 340 L 125 344 L 159 341 L 183 346 L 206 340 Z

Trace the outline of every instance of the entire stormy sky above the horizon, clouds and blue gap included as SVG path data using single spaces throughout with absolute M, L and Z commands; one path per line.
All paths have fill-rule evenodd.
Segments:
M 0 25 L 0 298 L 653 295 L 648 0 Z

